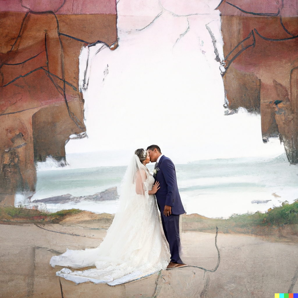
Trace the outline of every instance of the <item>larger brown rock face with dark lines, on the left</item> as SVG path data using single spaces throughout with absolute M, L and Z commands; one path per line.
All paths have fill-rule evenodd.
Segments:
M 4 1 L 3 1 L 4 2 Z M 0 7 L 0 204 L 35 191 L 34 162 L 65 159 L 86 131 L 82 46 L 117 45 L 116 2 L 7 0 Z

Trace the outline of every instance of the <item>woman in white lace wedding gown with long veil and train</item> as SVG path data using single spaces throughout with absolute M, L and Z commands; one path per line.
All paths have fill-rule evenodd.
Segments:
M 56 275 L 75 283 L 91 281 L 117 285 L 165 270 L 170 263 L 170 249 L 159 223 L 155 193 L 159 183 L 149 173 L 150 157 L 137 149 L 125 172 L 119 206 L 106 237 L 95 249 L 69 250 L 54 256 L 51 266 L 63 268 Z

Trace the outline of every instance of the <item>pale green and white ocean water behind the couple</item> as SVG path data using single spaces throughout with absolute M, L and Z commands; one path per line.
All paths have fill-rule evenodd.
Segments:
M 154 164 L 148 164 L 153 171 Z M 181 200 L 187 214 L 198 213 L 212 218 L 232 214 L 265 212 L 283 201 L 298 198 L 298 166 L 290 165 L 285 154 L 273 159 L 213 159 L 176 164 Z M 91 195 L 121 184 L 126 166 L 65 168 L 39 170 L 34 200 L 70 193 Z M 16 205 L 21 198 L 16 198 Z M 97 213 L 115 213 L 118 200 L 38 204 L 38 209 L 55 212 L 79 208 Z

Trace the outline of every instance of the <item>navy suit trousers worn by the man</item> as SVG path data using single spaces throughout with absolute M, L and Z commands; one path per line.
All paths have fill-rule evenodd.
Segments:
M 180 236 L 179 236 L 179 216 L 180 215 L 168 215 L 165 216 L 160 212 L 162 218 L 162 228 L 164 229 L 164 235 L 170 246 L 171 262 L 183 264 L 180 259 Z

